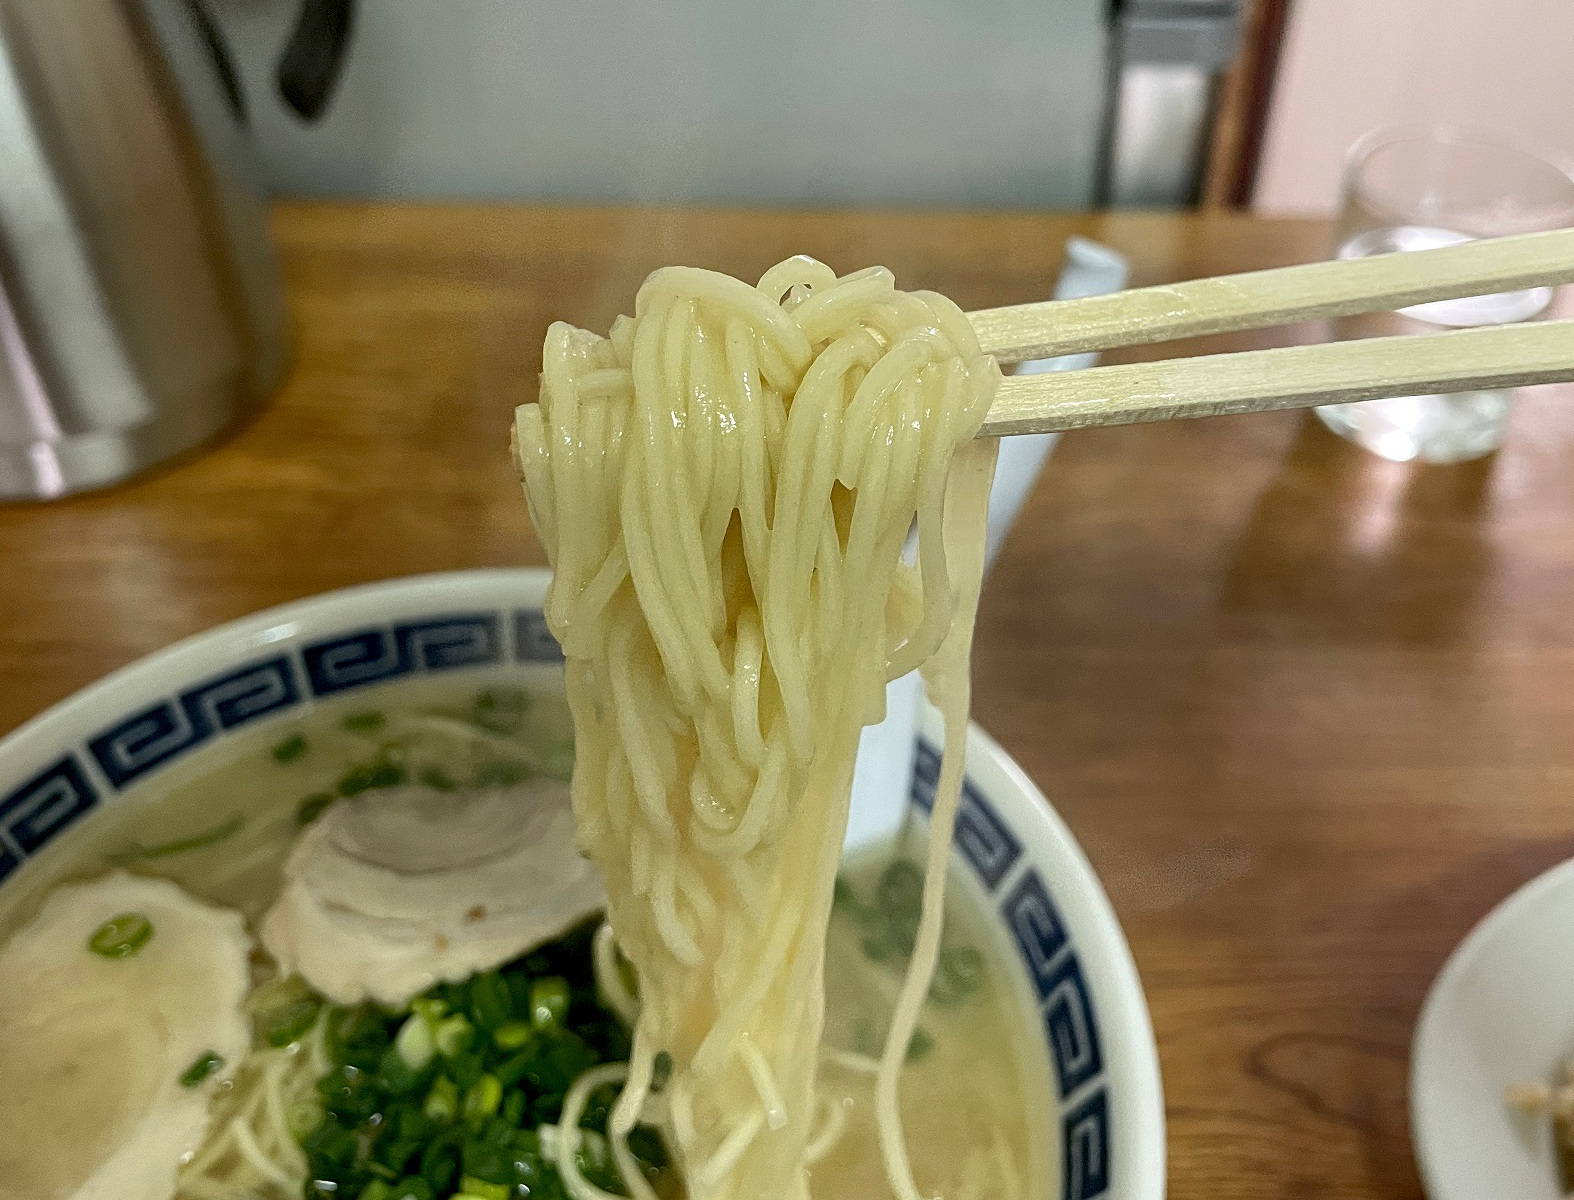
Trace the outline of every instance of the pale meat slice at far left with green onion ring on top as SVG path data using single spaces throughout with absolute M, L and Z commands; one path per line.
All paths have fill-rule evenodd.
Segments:
M 249 953 L 164 879 L 52 891 L 0 950 L 0 1200 L 173 1195 L 250 1043 Z

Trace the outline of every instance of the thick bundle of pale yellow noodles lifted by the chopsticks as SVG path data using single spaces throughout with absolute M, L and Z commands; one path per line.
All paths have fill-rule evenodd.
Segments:
M 636 1200 L 636 1120 L 693 1200 L 807 1195 L 837 1121 L 815 1071 L 858 737 L 922 666 L 946 754 L 877 1076 L 886 1170 L 918 1198 L 897 1076 L 938 953 L 995 449 L 973 435 L 996 383 L 944 298 L 803 257 L 759 287 L 661 269 L 611 337 L 548 332 L 515 452 L 554 567 L 579 841 L 639 983 L 609 1121 Z

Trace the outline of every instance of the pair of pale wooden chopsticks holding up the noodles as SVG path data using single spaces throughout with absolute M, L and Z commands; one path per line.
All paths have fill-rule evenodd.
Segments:
M 1574 282 L 1574 228 L 968 313 L 999 362 Z M 1007 376 L 979 436 L 1574 380 L 1574 321 Z

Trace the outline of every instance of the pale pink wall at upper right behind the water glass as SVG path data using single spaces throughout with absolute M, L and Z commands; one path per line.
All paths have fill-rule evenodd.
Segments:
M 1368 129 L 1458 121 L 1574 157 L 1574 0 L 1292 0 L 1261 213 L 1332 213 Z

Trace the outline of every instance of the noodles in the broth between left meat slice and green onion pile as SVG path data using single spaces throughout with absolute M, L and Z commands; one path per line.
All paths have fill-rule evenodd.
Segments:
M 307 1159 L 291 1113 L 321 1115 L 316 1082 L 331 1069 L 327 1017 L 282 1047 L 253 1049 L 212 1099 L 208 1137 L 176 1176 L 175 1200 L 296 1200 Z

